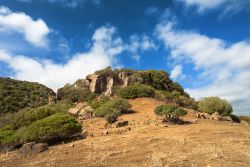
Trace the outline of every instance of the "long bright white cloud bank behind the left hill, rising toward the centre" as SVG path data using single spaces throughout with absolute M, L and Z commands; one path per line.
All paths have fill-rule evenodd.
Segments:
M 114 27 L 97 29 L 92 42 L 92 48 L 88 52 L 75 54 L 65 64 L 11 55 L 3 50 L 0 51 L 0 61 L 7 63 L 14 70 L 14 78 L 39 82 L 56 90 L 98 69 L 114 65 L 115 56 L 124 50 L 123 42 L 116 36 Z

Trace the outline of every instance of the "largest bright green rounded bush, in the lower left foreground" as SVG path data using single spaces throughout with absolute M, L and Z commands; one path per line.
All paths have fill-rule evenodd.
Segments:
M 57 113 L 33 122 L 24 133 L 24 141 L 56 142 L 81 132 L 81 124 L 73 117 Z

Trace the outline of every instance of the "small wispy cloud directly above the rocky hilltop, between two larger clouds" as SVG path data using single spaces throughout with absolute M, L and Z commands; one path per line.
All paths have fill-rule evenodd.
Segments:
M 148 36 L 142 35 L 132 35 L 130 36 L 130 43 L 127 44 L 126 50 L 132 54 L 132 58 L 137 62 L 140 61 L 140 53 L 149 51 L 149 50 L 156 50 L 157 45 L 155 42 Z

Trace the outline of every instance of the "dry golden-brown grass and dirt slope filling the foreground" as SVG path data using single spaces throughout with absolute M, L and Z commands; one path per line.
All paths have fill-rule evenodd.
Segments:
M 23 157 L 18 151 L 0 155 L 0 166 L 112 166 L 112 167 L 249 167 L 250 126 L 198 120 L 196 124 L 164 127 L 153 113 L 161 102 L 140 98 L 130 101 L 133 114 L 123 128 L 105 127 L 100 118 L 83 123 L 93 137 L 50 147 Z M 195 120 L 194 112 L 184 117 Z M 129 128 L 131 130 L 129 130 Z M 108 135 L 102 135 L 108 130 Z

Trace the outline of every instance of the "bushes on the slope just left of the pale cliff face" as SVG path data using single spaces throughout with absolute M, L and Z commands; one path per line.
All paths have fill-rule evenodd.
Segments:
M 80 81 L 78 81 L 80 82 Z M 58 89 L 57 99 L 58 100 L 69 100 L 75 102 L 88 102 L 96 98 L 96 94 L 92 93 L 86 87 L 75 87 L 73 85 L 65 85 L 63 88 Z

